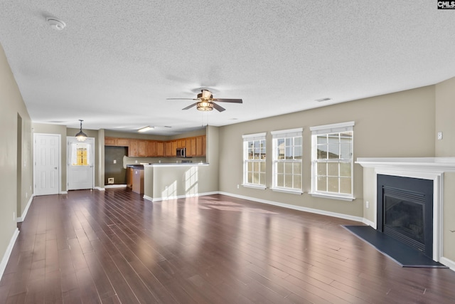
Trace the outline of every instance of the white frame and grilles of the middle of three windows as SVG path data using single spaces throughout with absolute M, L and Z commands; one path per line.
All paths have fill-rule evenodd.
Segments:
M 302 168 L 302 158 L 303 158 L 303 128 L 296 128 L 296 129 L 289 129 L 289 130 L 279 130 L 279 131 L 272 131 L 270 132 L 272 134 L 272 142 L 273 142 L 273 153 L 272 153 L 272 175 L 273 175 L 273 183 L 272 183 L 272 190 L 277 191 L 277 192 L 285 192 L 285 193 L 291 193 L 291 194 L 302 194 L 302 184 L 303 184 L 303 168 Z M 298 145 L 294 145 L 296 137 L 300 137 L 300 159 L 295 158 L 295 147 L 298 147 Z M 292 145 L 291 145 L 291 157 L 292 159 L 279 159 L 279 147 L 278 147 L 278 140 L 284 139 L 284 142 L 286 142 L 287 139 L 291 139 Z M 287 152 L 290 152 L 289 150 L 285 150 L 284 153 L 287 154 Z M 294 187 L 279 187 L 278 186 L 278 165 L 279 164 L 292 164 L 291 167 L 293 167 L 294 170 L 294 164 L 300 164 L 300 172 L 299 174 L 296 174 L 295 172 L 292 172 L 292 184 Z M 286 166 L 284 166 L 286 167 Z M 285 176 L 286 174 L 284 174 Z M 300 183 L 297 182 L 297 184 L 294 184 L 294 177 L 299 175 L 300 177 Z M 298 186 L 298 187 L 296 187 Z

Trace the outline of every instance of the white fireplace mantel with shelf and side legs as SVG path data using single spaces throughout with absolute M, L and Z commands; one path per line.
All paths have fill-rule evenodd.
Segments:
M 455 172 L 455 157 L 359 157 L 355 163 L 374 168 L 373 185 L 368 185 L 374 192 L 374 229 L 378 226 L 378 174 L 433 181 L 433 259 L 439 261 L 443 253 L 444 172 Z

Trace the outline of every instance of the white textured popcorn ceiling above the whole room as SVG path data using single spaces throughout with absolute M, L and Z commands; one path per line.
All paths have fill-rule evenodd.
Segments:
M 454 77 L 455 10 L 385 2 L 1 0 L 0 43 L 34 122 L 172 135 Z

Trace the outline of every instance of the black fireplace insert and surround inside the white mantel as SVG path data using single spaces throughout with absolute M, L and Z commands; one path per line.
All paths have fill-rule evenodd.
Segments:
M 378 230 L 433 258 L 433 181 L 378 174 Z

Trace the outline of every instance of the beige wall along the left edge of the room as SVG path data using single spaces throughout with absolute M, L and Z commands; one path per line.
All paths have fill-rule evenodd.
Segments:
M 33 192 L 32 164 L 31 119 L 0 45 L 0 263 Z

